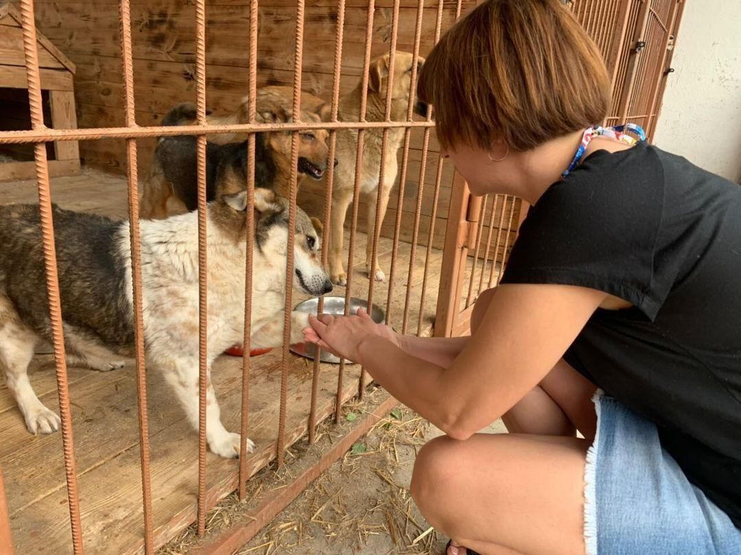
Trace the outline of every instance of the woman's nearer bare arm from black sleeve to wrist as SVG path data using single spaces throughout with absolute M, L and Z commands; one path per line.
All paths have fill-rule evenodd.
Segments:
M 466 439 L 534 388 L 605 297 L 570 285 L 502 285 L 448 368 L 372 334 L 360 340 L 357 362 L 396 399 L 449 436 Z M 342 333 L 338 328 L 334 333 Z M 331 336 L 325 340 L 332 344 Z

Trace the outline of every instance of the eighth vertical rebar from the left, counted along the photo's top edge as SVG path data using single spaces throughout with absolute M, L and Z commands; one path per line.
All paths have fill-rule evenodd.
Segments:
M 399 0 L 393 0 L 393 10 L 391 12 L 391 44 L 388 47 L 388 82 L 386 83 L 386 109 L 384 113 L 384 121 L 391 122 L 391 98 L 393 93 L 393 66 L 396 63 L 396 33 L 399 30 Z M 412 99 L 415 96 L 414 91 L 409 91 L 409 98 Z M 378 259 L 378 242 L 381 236 L 381 203 L 382 196 L 384 194 L 391 195 L 391 190 L 388 193 L 384 192 L 384 183 L 386 175 L 386 151 L 388 150 L 388 127 L 383 128 L 383 134 L 381 138 L 381 167 L 379 168 L 378 176 L 378 187 L 376 187 L 376 213 L 373 219 L 373 227 L 371 222 L 368 222 L 368 231 L 373 230 L 373 236 L 368 233 L 365 236 L 366 242 L 372 241 L 371 245 L 371 265 L 368 267 L 368 313 L 370 314 L 373 310 L 373 285 L 376 282 L 376 260 Z M 393 187 L 393 182 L 388 185 L 389 188 Z M 385 216 L 385 214 L 383 214 Z M 368 248 L 366 247 L 366 253 Z M 365 367 L 360 368 L 360 379 L 358 383 L 358 398 L 362 400 L 363 393 L 365 393 Z

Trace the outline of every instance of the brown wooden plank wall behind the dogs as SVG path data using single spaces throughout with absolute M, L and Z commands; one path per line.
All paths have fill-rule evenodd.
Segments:
M 456 2 L 442 0 L 443 30 L 450 27 Z M 124 93 L 119 38 L 117 0 L 36 0 L 39 29 L 77 66 L 75 93 L 79 127 L 107 127 L 124 124 Z M 341 93 L 355 87 L 362 72 L 365 49 L 367 0 L 346 0 L 345 39 L 342 53 Z M 399 12 L 399 50 L 412 50 L 416 20 L 416 0 L 402 0 Z M 473 0 L 463 1 L 463 9 Z M 438 3 L 426 0 L 422 19 L 424 56 L 433 46 Z M 392 0 L 377 0 L 373 24 L 372 55 L 388 52 L 391 39 Z M 249 50 L 249 2 L 247 0 L 213 0 L 206 2 L 206 76 L 207 105 L 214 113 L 229 113 L 247 93 Z M 305 43 L 303 89 L 329 98 L 332 86 L 335 0 L 307 0 L 305 8 Z M 133 0 L 134 81 L 136 120 L 140 125 L 157 124 L 178 102 L 195 102 L 195 7 L 188 0 Z M 259 4 L 258 79 L 259 85 L 293 84 L 293 50 L 296 29 L 296 2 L 264 0 Z M 433 133 L 434 135 L 434 133 Z M 139 173 L 153 151 L 153 140 L 139 142 Z M 422 144 L 422 130 L 415 130 L 413 150 L 406 184 L 403 218 L 405 239 L 411 237 L 413 211 Z M 432 208 L 433 183 L 437 156 L 434 137 L 428 157 L 425 194 L 420 227 L 421 242 L 426 244 Z M 124 142 L 102 140 L 80 143 L 85 164 L 114 172 L 125 171 Z M 439 218 L 436 222 L 435 245 L 442 246 L 445 231 L 452 168 L 446 164 L 440 192 Z M 314 196 L 305 193 L 299 203 L 308 210 L 321 206 Z M 382 233 L 393 230 L 396 216 L 396 190 Z M 316 212 L 316 210 L 313 210 Z M 365 207 L 360 208 L 365 221 Z M 363 228 L 363 227 L 362 227 Z M 425 241 L 422 241 L 425 239 Z

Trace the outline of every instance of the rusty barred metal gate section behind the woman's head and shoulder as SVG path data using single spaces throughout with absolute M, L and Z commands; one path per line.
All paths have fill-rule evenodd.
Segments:
M 650 140 L 671 73 L 668 64 L 684 0 L 565 0 L 565 4 L 597 44 L 611 76 L 612 104 L 604 123 L 639 124 Z M 468 333 L 476 297 L 499 282 L 528 207 L 514 197 L 471 196 L 456 176 L 450 210 L 436 336 Z

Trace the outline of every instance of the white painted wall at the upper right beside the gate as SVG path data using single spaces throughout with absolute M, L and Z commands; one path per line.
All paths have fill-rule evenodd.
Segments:
M 685 0 L 654 144 L 741 182 L 741 0 Z

